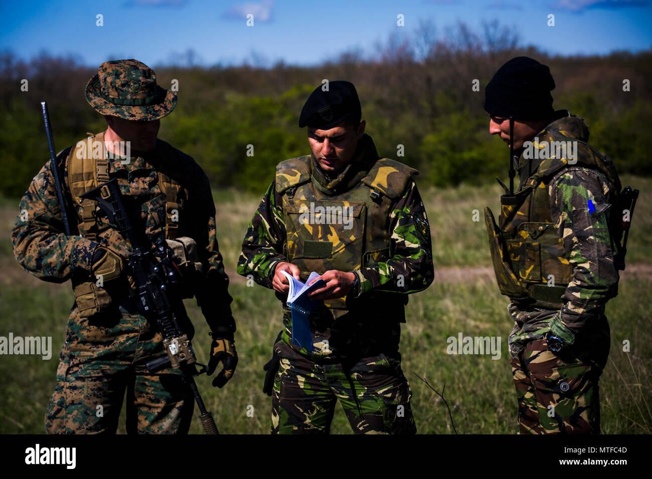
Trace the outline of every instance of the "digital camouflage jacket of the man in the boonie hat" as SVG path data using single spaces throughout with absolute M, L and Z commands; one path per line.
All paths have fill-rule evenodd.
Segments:
M 98 136 L 98 138 L 102 138 Z M 63 156 L 63 155 L 62 155 Z M 104 156 L 110 156 L 104 151 Z M 59 159 L 59 177 L 64 195 L 70 201 L 67 161 Z M 188 155 L 158 139 L 153 151 L 142 156 L 115 157 L 108 160 L 108 176 L 117 178 L 125 199 L 125 207 L 138 235 L 154 242 L 164 234 L 166 196 L 158 185 L 157 171 L 181 184 L 179 193 L 179 235 L 196 240 L 203 267 L 203 278 L 197 282 L 196 298 L 212 330 L 233 332 L 231 297 L 228 276 L 224 272 L 222 255 L 215 233 L 215 203 L 209 180 L 198 164 Z M 74 214 L 68 212 L 74 233 L 82 222 L 82 207 L 75 203 Z M 121 254 L 132 250 L 128 240 L 98 218 L 96 241 L 78 234 L 67 236 L 63 227 L 61 205 L 57 199 L 52 163 L 46 163 L 34 177 L 20 201 L 19 214 L 11 232 L 14 255 L 22 267 L 44 281 L 63 283 L 95 281 L 91 275 L 93 251 L 98 245 Z M 135 312 L 128 299 L 126 281 L 105 283 L 110 304 L 103 313 Z M 131 310 L 131 311 L 130 311 Z M 78 315 L 78 305 L 71 308 L 71 317 Z

